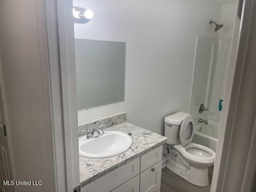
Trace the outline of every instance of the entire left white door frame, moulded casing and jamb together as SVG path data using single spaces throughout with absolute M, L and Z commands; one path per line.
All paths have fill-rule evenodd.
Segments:
M 44 0 L 57 191 L 80 185 L 73 2 Z

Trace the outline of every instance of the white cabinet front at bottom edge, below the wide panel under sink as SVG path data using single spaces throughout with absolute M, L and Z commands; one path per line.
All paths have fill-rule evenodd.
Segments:
M 112 192 L 140 192 L 140 175 L 127 181 Z

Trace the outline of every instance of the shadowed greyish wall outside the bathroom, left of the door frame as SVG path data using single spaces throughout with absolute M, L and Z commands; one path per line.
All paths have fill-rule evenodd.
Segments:
M 41 1 L 1 1 L 0 54 L 9 115 L 14 180 L 41 180 L 18 191 L 55 191 L 51 126 L 47 124 L 36 7 Z M 40 31 L 42 33 L 43 31 Z M 42 36 L 41 36 L 42 38 Z M 50 122 L 51 123 L 51 122 Z

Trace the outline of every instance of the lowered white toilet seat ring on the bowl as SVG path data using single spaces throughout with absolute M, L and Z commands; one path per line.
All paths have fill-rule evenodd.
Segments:
M 199 145 L 197 143 L 189 143 L 186 147 L 183 147 L 182 145 L 175 145 L 174 148 L 177 149 L 187 160 L 197 163 L 214 163 L 216 156 L 215 152 L 212 149 Z M 194 151 L 197 152 L 198 155 L 191 153 L 188 149 L 194 149 Z M 202 152 L 206 154 L 199 155 L 200 153 L 202 154 Z M 209 154 L 209 157 L 207 157 L 207 154 Z

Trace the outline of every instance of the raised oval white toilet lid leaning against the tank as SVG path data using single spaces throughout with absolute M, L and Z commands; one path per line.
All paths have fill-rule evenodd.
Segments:
M 180 143 L 183 147 L 188 145 L 194 137 L 194 121 L 191 116 L 187 116 L 180 125 Z

